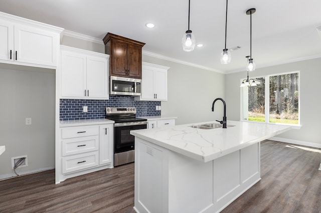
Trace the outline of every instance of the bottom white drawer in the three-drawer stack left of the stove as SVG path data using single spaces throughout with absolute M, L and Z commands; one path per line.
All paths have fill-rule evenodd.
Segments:
M 62 173 L 78 171 L 98 165 L 98 151 L 75 154 L 62 158 Z

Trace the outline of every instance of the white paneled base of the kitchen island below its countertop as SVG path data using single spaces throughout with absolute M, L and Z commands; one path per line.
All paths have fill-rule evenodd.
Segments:
M 208 162 L 135 137 L 136 212 L 219 212 L 260 180 L 260 143 Z

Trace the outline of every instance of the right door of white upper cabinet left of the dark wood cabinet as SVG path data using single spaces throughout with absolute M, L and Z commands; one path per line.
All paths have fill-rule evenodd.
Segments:
M 87 56 L 87 95 L 108 99 L 107 58 Z

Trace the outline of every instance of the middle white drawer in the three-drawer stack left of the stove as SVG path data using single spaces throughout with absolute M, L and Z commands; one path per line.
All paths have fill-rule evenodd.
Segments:
M 62 140 L 62 155 L 79 154 L 88 151 L 98 150 L 98 135 L 74 137 Z

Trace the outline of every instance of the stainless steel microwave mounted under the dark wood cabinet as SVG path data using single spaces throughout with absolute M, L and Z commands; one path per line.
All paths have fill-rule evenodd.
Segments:
M 141 79 L 110 76 L 109 94 L 140 95 Z

